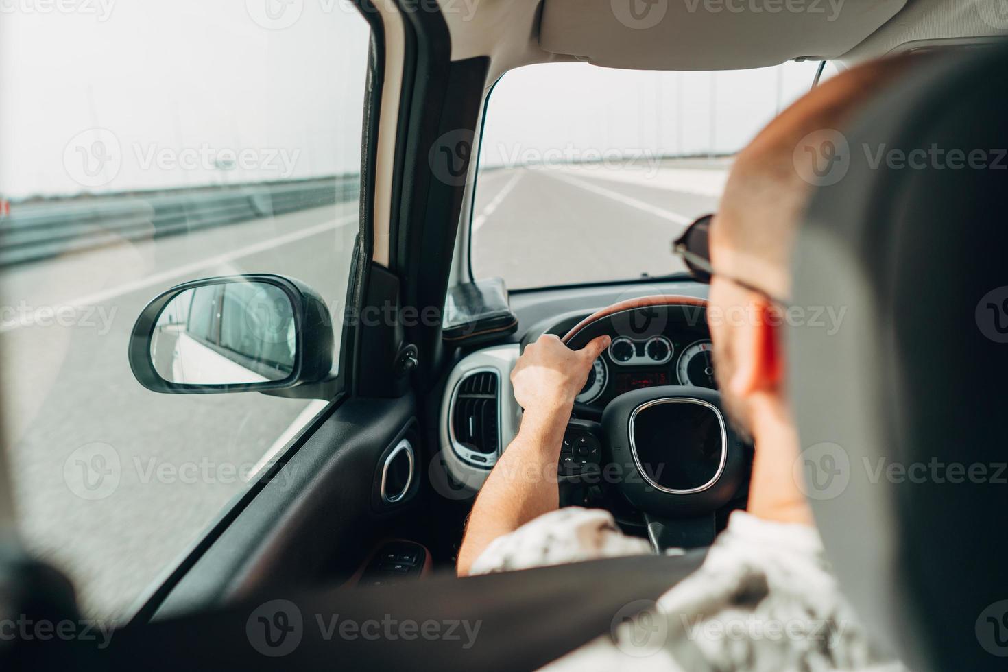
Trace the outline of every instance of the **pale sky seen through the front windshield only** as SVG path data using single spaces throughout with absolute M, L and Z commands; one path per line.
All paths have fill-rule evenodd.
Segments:
M 734 153 L 806 93 L 815 62 L 718 73 L 545 63 L 506 74 L 490 99 L 480 156 L 509 165 L 546 149 L 572 155 Z

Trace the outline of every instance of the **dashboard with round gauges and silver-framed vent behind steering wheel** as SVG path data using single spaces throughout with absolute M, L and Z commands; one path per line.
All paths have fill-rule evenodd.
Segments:
M 527 344 L 542 333 L 563 337 L 600 307 L 630 297 L 677 294 L 705 299 L 707 287 L 692 282 L 669 285 L 560 288 L 512 295 L 523 326 L 498 343 L 476 348 L 456 362 L 442 391 L 439 439 L 445 467 L 461 492 L 478 491 L 503 450 L 517 434 L 522 409 L 514 399 L 510 374 Z M 596 360 L 578 394 L 574 417 L 599 420 L 617 397 L 641 388 L 687 385 L 715 389 L 711 335 L 706 309 L 670 312 L 644 333 L 611 322 L 610 347 Z M 461 494 L 461 493 L 460 493 Z

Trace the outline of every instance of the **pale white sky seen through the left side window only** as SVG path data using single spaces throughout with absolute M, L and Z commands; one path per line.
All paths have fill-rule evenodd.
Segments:
M 0 2 L 7 197 L 360 169 L 370 28 L 346 5 L 308 0 L 286 26 L 256 0 L 60 1 L 76 11 Z M 121 160 L 82 175 L 95 140 Z

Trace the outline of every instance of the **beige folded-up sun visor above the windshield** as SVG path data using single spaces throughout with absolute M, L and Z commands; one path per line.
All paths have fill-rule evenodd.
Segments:
M 906 0 L 544 0 L 539 45 L 596 65 L 712 71 L 835 58 Z

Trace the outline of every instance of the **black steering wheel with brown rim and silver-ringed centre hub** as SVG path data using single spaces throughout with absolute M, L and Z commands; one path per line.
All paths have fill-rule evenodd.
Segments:
M 644 341 L 669 322 L 707 318 L 707 301 L 690 296 L 634 298 L 599 310 L 562 338 L 572 350 L 593 339 Z M 602 357 L 606 357 L 603 355 Z M 560 479 L 587 477 L 613 486 L 644 514 L 654 545 L 703 546 L 714 540 L 716 512 L 745 482 L 746 449 L 716 390 L 664 385 L 626 392 L 601 422 L 573 419 L 560 454 Z

